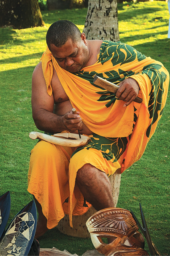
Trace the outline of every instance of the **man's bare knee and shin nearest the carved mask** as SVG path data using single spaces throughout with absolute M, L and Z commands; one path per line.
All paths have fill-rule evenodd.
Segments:
M 77 172 L 76 183 L 86 201 L 96 210 L 114 207 L 112 187 L 106 173 L 85 164 Z

